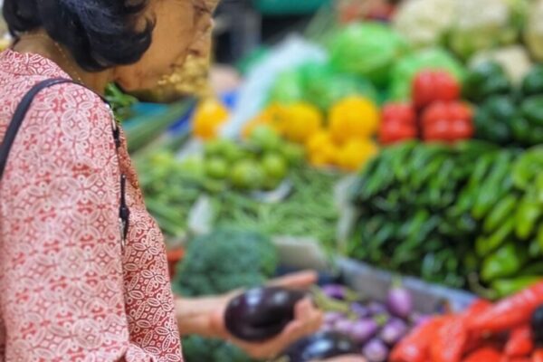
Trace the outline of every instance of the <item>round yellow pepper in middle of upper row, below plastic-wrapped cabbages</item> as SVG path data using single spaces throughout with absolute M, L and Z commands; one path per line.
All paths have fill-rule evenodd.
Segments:
M 322 123 L 322 114 L 310 104 L 294 103 L 282 107 L 280 131 L 293 142 L 305 144 L 321 129 Z

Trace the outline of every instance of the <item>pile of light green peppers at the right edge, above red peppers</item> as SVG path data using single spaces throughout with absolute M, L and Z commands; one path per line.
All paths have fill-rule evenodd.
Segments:
M 479 184 L 472 215 L 480 224 L 469 267 L 480 269 L 491 297 L 520 291 L 543 277 L 543 147 L 515 157 L 501 150 L 481 157 L 470 185 Z M 487 191 L 492 190 L 493 192 Z M 460 195 L 464 205 L 468 193 Z M 485 199 L 486 207 L 478 205 Z

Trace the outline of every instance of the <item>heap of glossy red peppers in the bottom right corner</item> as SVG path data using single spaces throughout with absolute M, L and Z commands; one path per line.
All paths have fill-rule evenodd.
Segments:
M 394 349 L 392 362 L 540 361 L 543 283 L 492 305 L 476 301 L 459 315 L 430 319 Z

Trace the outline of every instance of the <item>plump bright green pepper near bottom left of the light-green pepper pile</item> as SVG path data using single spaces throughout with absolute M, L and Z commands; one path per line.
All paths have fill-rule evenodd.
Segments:
M 524 245 L 506 243 L 482 263 L 481 279 L 495 281 L 499 278 L 510 278 L 528 261 L 528 252 Z

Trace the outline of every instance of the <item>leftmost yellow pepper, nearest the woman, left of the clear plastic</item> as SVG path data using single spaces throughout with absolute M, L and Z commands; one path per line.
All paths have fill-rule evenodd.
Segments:
M 214 98 L 200 101 L 193 119 L 193 133 L 197 138 L 214 139 L 219 128 L 230 116 L 224 104 Z

